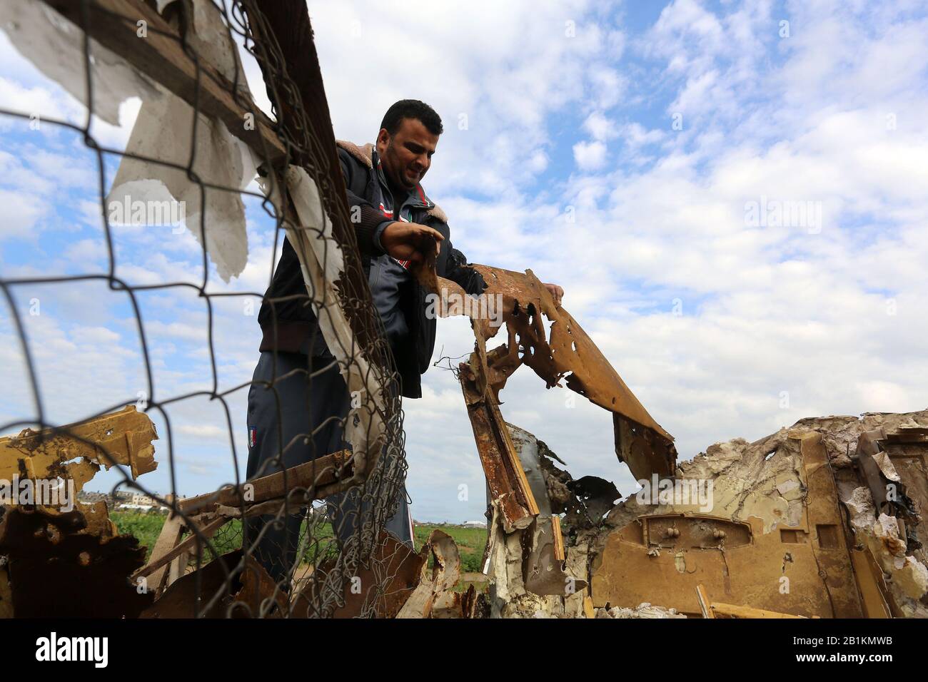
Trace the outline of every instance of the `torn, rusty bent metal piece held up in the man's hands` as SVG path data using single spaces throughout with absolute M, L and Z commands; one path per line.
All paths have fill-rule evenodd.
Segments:
M 426 290 L 437 294 L 437 314 L 470 316 L 474 333 L 474 353 L 458 367 L 458 379 L 493 508 L 484 552 L 484 573 L 490 575 L 494 593 L 491 611 L 504 614 L 514 600 L 520 603 L 510 611 L 521 614 L 535 606 L 562 609 L 564 599 L 586 587 L 586 581 L 564 572 L 561 518 L 552 515 L 540 460 L 520 461 L 499 412 L 499 392 L 512 372 L 527 365 L 547 388 L 564 380 L 574 392 L 611 411 L 616 455 L 637 478 L 672 475 L 677 452 L 673 437 L 651 418 L 583 328 L 554 302 L 531 270 L 522 274 L 486 265 L 471 267 L 487 284 L 483 294 L 473 299 L 458 284 L 436 276 L 433 258 L 417 276 Z M 500 315 L 489 315 L 491 311 Z M 486 341 L 503 324 L 507 341 L 488 351 Z M 530 485 L 526 472 L 530 477 L 535 472 L 538 484 Z M 599 482 L 584 483 L 596 487 Z M 612 486 L 583 495 L 575 507 L 599 520 L 617 497 Z M 535 603 L 536 599 L 541 601 Z

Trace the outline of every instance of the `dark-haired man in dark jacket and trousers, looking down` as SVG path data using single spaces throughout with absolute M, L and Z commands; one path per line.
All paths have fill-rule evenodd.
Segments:
M 362 263 L 393 351 L 393 370 L 407 398 L 422 395 L 420 376 L 432 358 L 436 326 L 434 316 L 426 315 L 428 291 L 419 286 L 410 265 L 437 251 L 435 267 L 439 276 L 457 282 L 470 294 L 480 294 L 485 287 L 480 274 L 467 266 L 464 254 L 453 248 L 445 212 L 420 185 L 432 165 L 432 154 L 442 132 L 442 121 L 429 105 L 404 99 L 387 110 L 376 145 L 338 143 Z M 561 288 L 546 286 L 560 301 Z M 302 295 L 302 300 L 273 306 L 267 302 L 295 295 Z M 258 315 L 263 332 L 261 358 L 248 400 L 249 479 L 280 470 L 281 464 L 290 468 L 345 447 L 343 423 L 351 403 L 309 306 L 300 264 L 289 241 L 284 241 L 280 262 L 264 298 Z M 312 380 L 307 380 L 308 372 L 312 372 Z M 278 403 L 274 391 L 266 386 L 288 374 L 275 383 Z M 278 455 L 278 430 L 286 448 L 282 463 L 274 461 Z M 369 509 L 357 495 L 335 495 L 327 502 L 336 534 L 345 541 L 354 533 L 358 517 Z M 249 542 L 270 518 L 247 521 Z M 387 521 L 386 529 L 413 546 L 405 486 L 399 508 Z M 283 528 L 264 528 L 257 555 L 277 581 L 293 562 L 299 530 L 298 517 L 288 520 Z

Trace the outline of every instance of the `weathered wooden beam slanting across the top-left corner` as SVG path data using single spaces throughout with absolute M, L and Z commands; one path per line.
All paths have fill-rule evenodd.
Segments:
M 272 162 L 286 158 L 287 149 L 274 130 L 275 123 L 245 94 L 239 92 L 234 97 L 233 84 L 204 59 L 200 59 L 198 91 L 197 63 L 184 52 L 180 34 L 154 7 L 140 0 L 43 2 L 191 107 L 226 123 L 229 132 L 249 145 L 259 158 Z M 144 38 L 136 33 L 136 22 L 140 20 L 148 24 Z M 244 71 L 241 79 L 244 82 Z M 253 130 L 245 127 L 246 114 L 254 116 Z

